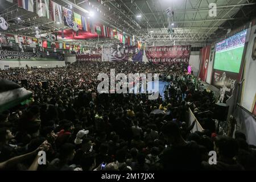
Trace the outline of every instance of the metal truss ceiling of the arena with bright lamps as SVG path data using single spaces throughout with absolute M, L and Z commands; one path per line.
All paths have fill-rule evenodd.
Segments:
M 18 9 L 16 3 L 0 0 L 0 11 L 9 22 L 9 32 L 29 35 L 40 27 L 42 33 L 61 30 L 63 25 L 39 18 L 36 13 Z M 254 0 L 54 0 L 81 15 L 94 11 L 94 19 L 117 28 L 128 35 L 136 35 L 147 43 L 158 41 L 210 43 L 228 28 L 234 29 L 255 16 Z M 14 0 L 15 2 L 15 0 Z M 209 3 L 216 3 L 217 16 L 209 16 Z M 171 23 L 174 37 L 167 32 L 166 9 L 174 10 Z M 18 12 L 16 11 L 18 9 Z M 20 17 L 20 20 L 17 18 Z M 28 27 L 24 30 L 24 27 Z M 88 40 L 86 40 L 88 41 Z

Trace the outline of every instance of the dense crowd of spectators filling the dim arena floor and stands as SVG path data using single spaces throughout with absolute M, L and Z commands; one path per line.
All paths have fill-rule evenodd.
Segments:
M 200 88 L 185 63 L 77 61 L 60 68 L 10 68 L 0 78 L 21 84 L 32 98 L 0 114 L 2 170 L 254 170 L 254 146 L 240 132 L 218 135 L 212 92 Z M 99 73 L 159 73 L 164 99 L 97 92 Z M 48 81 L 44 86 L 42 81 Z M 203 131 L 192 133 L 188 108 Z M 156 113 L 155 110 L 163 110 Z M 46 163 L 39 164 L 39 151 Z M 209 152 L 217 163 L 209 164 Z M 43 159 L 42 159 L 43 161 Z

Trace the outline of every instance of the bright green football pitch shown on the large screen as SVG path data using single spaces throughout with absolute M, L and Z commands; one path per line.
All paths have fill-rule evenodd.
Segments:
M 216 52 L 214 59 L 214 69 L 239 73 L 243 48 L 244 46 Z

